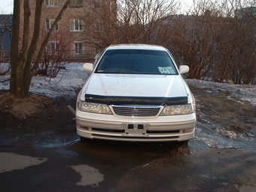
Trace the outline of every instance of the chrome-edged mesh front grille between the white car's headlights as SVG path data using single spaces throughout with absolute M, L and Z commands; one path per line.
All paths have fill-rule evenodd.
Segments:
M 148 116 L 156 116 L 160 110 L 160 107 L 120 107 L 113 106 L 114 112 L 117 115 L 121 116 L 136 116 L 136 117 L 148 117 Z

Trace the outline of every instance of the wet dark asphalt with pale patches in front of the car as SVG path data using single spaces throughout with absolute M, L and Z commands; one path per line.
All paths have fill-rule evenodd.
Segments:
M 75 132 L 0 142 L 0 191 L 256 191 L 253 138 L 204 126 L 187 143 L 81 142 Z

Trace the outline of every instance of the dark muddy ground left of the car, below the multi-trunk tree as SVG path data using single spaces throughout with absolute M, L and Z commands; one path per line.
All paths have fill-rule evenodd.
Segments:
M 32 145 L 65 138 L 75 133 L 75 99 L 50 99 L 31 94 L 27 99 L 14 99 L 0 91 L 0 140 L 7 146 Z

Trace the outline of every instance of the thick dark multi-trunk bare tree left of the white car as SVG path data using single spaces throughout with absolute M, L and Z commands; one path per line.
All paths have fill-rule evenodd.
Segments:
M 44 53 L 44 49 L 47 46 L 47 42 L 50 39 L 50 35 L 53 32 L 58 21 L 61 19 L 62 14 L 66 8 L 68 8 L 70 0 L 66 1 L 61 11 L 59 11 L 50 31 L 44 38 L 43 43 L 39 51 L 36 53 L 36 47 L 38 46 L 38 37 L 40 34 L 41 26 L 41 9 L 44 0 L 35 1 L 35 21 L 32 40 L 29 41 L 29 26 L 31 11 L 29 7 L 29 0 L 14 0 L 14 15 L 13 15 L 13 31 L 11 41 L 11 80 L 10 80 L 10 94 L 16 98 L 24 98 L 29 96 L 29 86 L 31 83 L 32 76 L 38 69 L 38 65 L 41 56 Z M 22 13 L 20 5 L 23 3 L 23 17 L 20 17 Z M 20 44 L 20 19 L 23 18 L 23 37 L 22 46 L 19 50 Z M 35 55 L 36 53 L 36 55 Z M 35 58 L 35 63 L 32 66 L 32 59 Z

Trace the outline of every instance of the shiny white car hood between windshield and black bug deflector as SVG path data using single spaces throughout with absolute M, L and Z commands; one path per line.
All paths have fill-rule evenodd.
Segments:
M 82 95 L 121 97 L 187 97 L 179 75 L 93 74 Z

